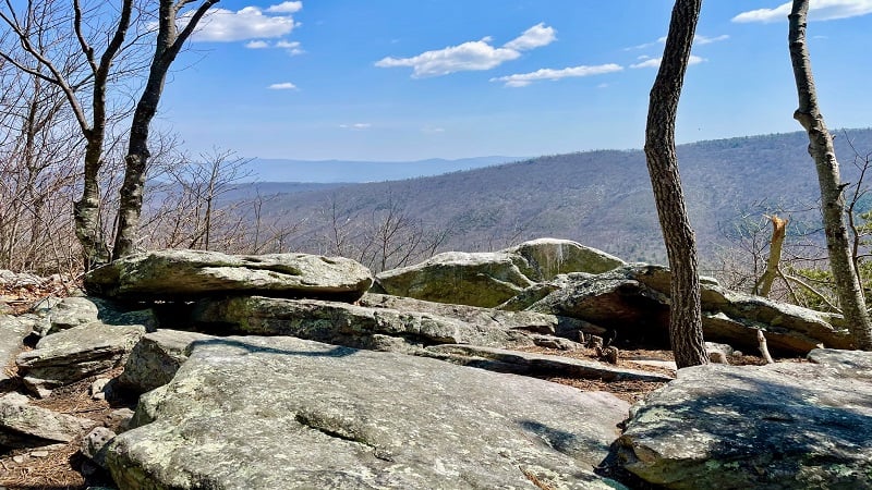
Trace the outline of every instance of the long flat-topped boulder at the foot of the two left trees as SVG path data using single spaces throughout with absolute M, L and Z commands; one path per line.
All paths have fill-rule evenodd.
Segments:
M 306 254 L 227 255 L 206 250 L 134 254 L 85 275 L 85 289 L 119 299 L 193 299 L 216 293 L 354 301 L 373 283 L 370 270 L 343 257 Z

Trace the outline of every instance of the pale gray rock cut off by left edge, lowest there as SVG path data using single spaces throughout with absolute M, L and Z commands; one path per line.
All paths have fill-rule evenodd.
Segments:
M 70 442 L 97 422 L 33 406 L 27 396 L 0 396 L 0 446 L 35 448 Z

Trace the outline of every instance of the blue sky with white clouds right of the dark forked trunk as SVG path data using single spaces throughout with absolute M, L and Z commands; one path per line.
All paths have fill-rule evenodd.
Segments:
M 222 0 L 159 124 L 192 152 L 415 160 L 640 148 L 666 0 Z M 708 0 L 679 143 L 799 131 L 782 1 Z M 872 125 L 872 0 L 812 0 L 831 128 Z

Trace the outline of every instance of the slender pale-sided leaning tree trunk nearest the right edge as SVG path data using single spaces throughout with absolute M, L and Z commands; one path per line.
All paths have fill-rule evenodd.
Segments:
M 818 169 L 818 183 L 821 186 L 821 208 L 826 233 L 826 248 L 829 254 L 829 267 L 836 282 L 841 313 L 853 334 L 856 346 L 872 351 L 872 322 L 865 309 L 863 290 L 851 262 L 851 250 L 848 244 L 848 231 L 845 226 L 846 184 L 840 183 L 838 160 L 833 147 L 833 136 L 824 124 L 824 118 L 818 107 L 818 93 L 811 72 L 811 60 L 806 47 L 807 14 L 809 0 L 794 0 L 788 19 L 790 30 L 790 61 L 794 65 L 794 77 L 797 82 L 799 108 L 794 119 L 799 121 L 809 134 L 809 155 Z

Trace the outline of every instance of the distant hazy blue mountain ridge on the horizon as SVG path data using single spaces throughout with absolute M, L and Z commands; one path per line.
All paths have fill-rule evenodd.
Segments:
M 477 157 L 417 161 L 283 160 L 255 158 L 247 169 L 261 182 L 384 182 L 439 175 L 518 161 L 518 157 Z

